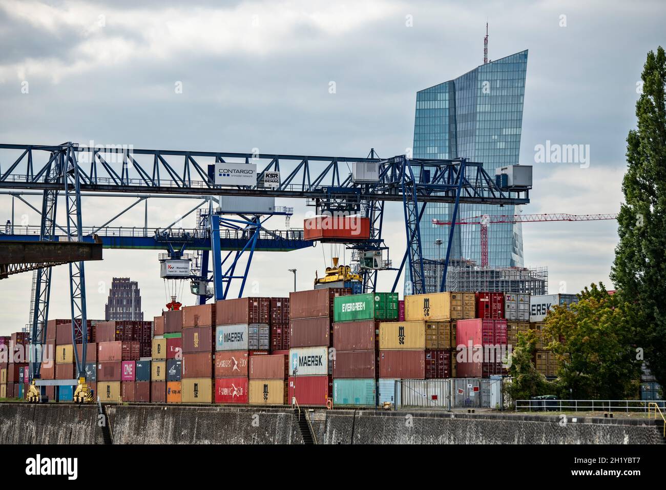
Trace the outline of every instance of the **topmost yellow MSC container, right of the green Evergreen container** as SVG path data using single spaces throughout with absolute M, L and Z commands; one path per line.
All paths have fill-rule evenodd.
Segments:
M 476 317 L 474 293 L 426 293 L 405 296 L 406 321 L 457 320 Z

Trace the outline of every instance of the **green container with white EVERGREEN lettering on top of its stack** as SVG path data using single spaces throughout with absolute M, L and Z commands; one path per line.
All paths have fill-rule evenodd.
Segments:
M 334 321 L 397 320 L 398 293 L 338 296 L 333 303 Z

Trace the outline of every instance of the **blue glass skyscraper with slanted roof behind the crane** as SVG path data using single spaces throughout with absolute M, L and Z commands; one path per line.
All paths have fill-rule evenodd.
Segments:
M 497 167 L 517 165 L 526 70 L 527 50 L 480 65 L 454 80 L 419 91 L 416 94 L 414 158 L 466 157 L 484 163 L 484 168 L 492 176 Z M 452 211 L 452 204 L 428 203 L 426 206 L 420 222 L 424 259 L 446 257 L 450 227 L 433 225 L 432 219 L 450 221 Z M 513 206 L 468 204 L 458 208 L 459 219 L 513 215 L 516 212 Z M 438 239 L 442 241 L 440 245 L 436 244 Z M 479 225 L 456 225 L 451 257 L 481 264 Z M 488 265 L 523 267 L 523 237 L 519 223 L 488 227 Z M 406 280 L 409 280 L 408 275 Z M 426 281 L 427 290 L 434 290 L 435 283 L 434 277 Z

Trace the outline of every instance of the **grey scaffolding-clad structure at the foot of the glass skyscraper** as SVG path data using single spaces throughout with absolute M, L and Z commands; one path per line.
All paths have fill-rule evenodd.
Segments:
M 426 291 L 438 291 L 443 261 L 424 261 Z M 490 291 L 498 293 L 548 293 L 547 267 L 480 267 L 475 261 L 452 259 L 446 275 L 446 291 Z

